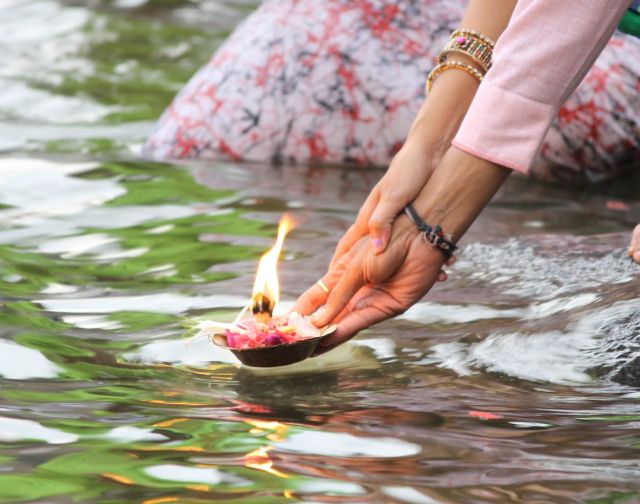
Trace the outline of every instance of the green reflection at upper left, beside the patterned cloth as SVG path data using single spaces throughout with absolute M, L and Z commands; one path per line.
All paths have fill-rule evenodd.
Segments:
M 79 54 L 89 74 L 69 73 L 60 83 L 31 83 L 66 96 L 88 96 L 114 107 L 107 122 L 155 120 L 226 32 L 141 18 L 92 14 Z

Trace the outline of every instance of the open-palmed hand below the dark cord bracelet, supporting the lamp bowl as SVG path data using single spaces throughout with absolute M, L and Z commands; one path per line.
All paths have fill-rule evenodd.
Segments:
M 318 327 L 338 324 L 315 355 L 403 313 L 436 282 L 444 262 L 442 252 L 427 244 L 406 217 L 393 225 L 392 236 L 381 254 L 374 253 L 368 238 L 361 238 L 322 278 L 328 295 L 315 284 L 298 299 L 293 309 L 307 315 L 324 305 L 313 317 Z

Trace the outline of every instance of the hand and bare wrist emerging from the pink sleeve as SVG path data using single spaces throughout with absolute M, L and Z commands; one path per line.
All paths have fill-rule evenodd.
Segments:
M 416 198 L 416 210 L 457 241 L 510 173 L 451 147 Z M 443 263 L 442 252 L 426 244 L 403 215 L 393 223 L 383 253 L 375 254 L 370 240 L 360 238 L 322 278 L 329 294 L 315 284 L 298 299 L 294 310 L 308 315 L 325 304 L 314 323 L 338 322 L 337 332 L 325 340 L 327 346 L 316 352 L 322 353 L 361 329 L 404 312 L 433 286 Z

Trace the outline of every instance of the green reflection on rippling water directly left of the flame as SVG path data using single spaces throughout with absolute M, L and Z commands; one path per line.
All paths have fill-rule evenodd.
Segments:
M 203 241 L 216 235 L 269 236 L 272 226 L 246 219 L 239 211 L 221 211 L 216 206 L 228 191 L 197 184 L 189 172 L 159 163 L 105 163 L 100 168 L 77 175 L 86 179 L 116 180 L 126 194 L 107 206 L 131 206 L 132 212 L 150 205 L 182 206 L 195 215 L 175 219 L 148 220 L 142 224 L 105 229 L 85 228 L 76 235 L 107 234 L 117 238 L 126 253 L 116 259 L 91 254 L 72 257 L 25 250 L 17 245 L 0 246 L 0 276 L 17 276 L 17 282 L 2 282 L 0 295 L 31 296 L 51 283 L 75 286 L 156 288 L 158 285 L 210 283 L 232 278 L 231 273 L 209 269 L 226 262 L 258 257 L 260 249 Z M 150 217 L 150 219 L 152 219 Z M 26 309 L 21 305 L 20 309 Z M 18 305 L 14 306 L 18 309 Z M 31 307 L 29 309 L 32 309 Z

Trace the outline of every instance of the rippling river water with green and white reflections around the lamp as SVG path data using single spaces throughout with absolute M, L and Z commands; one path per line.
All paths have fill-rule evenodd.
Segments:
M 380 176 L 139 160 L 250 8 L 0 6 L 0 501 L 640 501 L 637 179 L 510 180 L 450 281 L 321 359 L 188 343 L 247 301 L 285 210 L 293 301 Z

